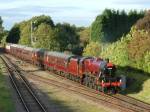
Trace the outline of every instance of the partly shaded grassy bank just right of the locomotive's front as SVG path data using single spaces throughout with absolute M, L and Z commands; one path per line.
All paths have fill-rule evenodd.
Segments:
M 119 73 L 132 79 L 124 93 L 150 104 L 150 75 L 132 70 L 120 70 Z

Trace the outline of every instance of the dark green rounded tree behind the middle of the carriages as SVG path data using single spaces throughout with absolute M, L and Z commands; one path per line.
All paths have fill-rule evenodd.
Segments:
M 76 32 L 76 27 L 68 23 L 56 25 L 56 41 L 59 44 L 60 51 L 70 50 L 79 46 L 79 36 Z

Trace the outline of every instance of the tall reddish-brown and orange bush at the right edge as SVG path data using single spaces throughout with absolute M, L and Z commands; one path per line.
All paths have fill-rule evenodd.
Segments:
M 150 15 L 146 14 L 135 24 L 135 31 L 132 34 L 132 41 L 128 43 L 129 58 L 132 66 L 150 72 Z

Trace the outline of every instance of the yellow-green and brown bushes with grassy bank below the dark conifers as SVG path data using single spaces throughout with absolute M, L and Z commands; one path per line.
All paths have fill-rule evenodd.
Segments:
M 150 13 L 147 11 L 144 17 L 138 20 L 130 28 L 130 31 L 120 37 L 118 41 L 104 44 L 97 40 L 99 45 L 96 42 L 90 42 L 83 53 L 85 56 L 95 54 L 99 57 L 109 58 L 117 65 L 117 75 L 127 76 L 128 83 L 124 94 L 148 103 L 150 103 L 149 20 Z M 99 47 L 101 48 L 100 50 L 98 50 Z M 92 51 L 90 52 L 89 50 L 91 49 Z

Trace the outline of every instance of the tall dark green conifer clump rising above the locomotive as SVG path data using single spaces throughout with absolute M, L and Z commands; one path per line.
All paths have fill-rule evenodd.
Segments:
M 115 42 L 130 31 L 131 26 L 144 16 L 144 12 L 105 9 L 92 24 L 91 40 Z

